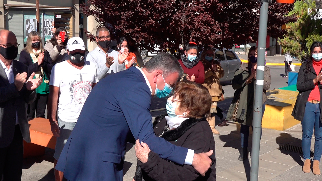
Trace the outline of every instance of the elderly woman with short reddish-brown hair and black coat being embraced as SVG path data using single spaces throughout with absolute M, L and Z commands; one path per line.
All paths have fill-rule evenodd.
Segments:
M 205 176 L 191 165 L 164 160 L 146 147 L 144 159 L 138 157 L 134 180 L 216 180 L 215 141 L 206 120 L 211 105 L 212 98 L 206 87 L 191 81 L 178 82 L 166 105 L 168 114 L 157 117 L 154 122 L 154 133 L 176 146 L 192 149 L 194 153 L 213 150 L 212 165 Z

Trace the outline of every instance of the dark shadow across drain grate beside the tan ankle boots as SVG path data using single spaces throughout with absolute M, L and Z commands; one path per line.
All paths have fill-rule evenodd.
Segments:
M 279 147 L 283 146 L 285 144 L 289 144 L 289 145 L 297 146 L 297 147 L 302 147 L 302 145 L 301 145 L 302 140 L 301 139 L 294 138 L 288 133 L 280 133 L 279 135 L 280 135 L 279 137 L 276 137 L 276 143 L 279 144 Z M 289 140 L 292 140 L 292 141 L 289 142 Z M 291 151 L 286 151 L 286 150 L 280 150 L 280 152 L 285 155 L 291 156 L 293 158 L 293 160 L 296 161 L 296 163 L 298 163 L 298 165 L 303 167 L 304 163 L 302 161 L 301 154 L 291 152 Z

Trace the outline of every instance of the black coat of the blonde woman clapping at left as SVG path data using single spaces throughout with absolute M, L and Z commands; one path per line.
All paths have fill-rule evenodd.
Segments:
M 28 74 L 32 74 L 33 72 L 40 71 L 39 67 L 43 66 L 43 70 L 48 78 L 50 79 L 50 73 L 52 72 L 52 58 L 50 58 L 49 52 L 47 50 L 44 51 L 43 63 L 38 65 L 38 63 L 33 63 L 33 60 L 30 57 L 30 54 L 25 50 L 20 52 L 19 62 L 24 63 L 28 67 Z

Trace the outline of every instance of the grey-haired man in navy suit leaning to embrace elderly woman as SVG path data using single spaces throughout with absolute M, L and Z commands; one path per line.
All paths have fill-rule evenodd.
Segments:
M 88 96 L 55 168 L 68 180 L 121 181 L 127 136 L 132 133 L 161 158 L 192 165 L 204 175 L 212 150 L 194 154 L 153 132 L 151 95 L 169 95 L 182 73 L 174 56 L 159 53 L 142 70 L 131 67 L 102 79 Z

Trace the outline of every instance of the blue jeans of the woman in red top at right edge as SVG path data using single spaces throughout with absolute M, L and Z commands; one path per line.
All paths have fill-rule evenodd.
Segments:
M 320 121 L 320 104 L 306 103 L 302 120 L 303 158 L 310 159 L 311 139 L 314 128 L 314 160 L 320 161 L 322 154 L 322 123 Z

